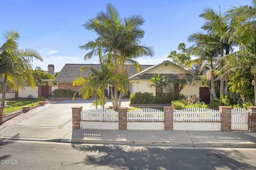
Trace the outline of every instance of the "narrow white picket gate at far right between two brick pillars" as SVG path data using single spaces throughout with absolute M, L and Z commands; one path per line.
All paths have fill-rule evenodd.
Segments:
M 231 129 L 248 129 L 248 112 L 244 108 L 236 107 L 231 109 Z

